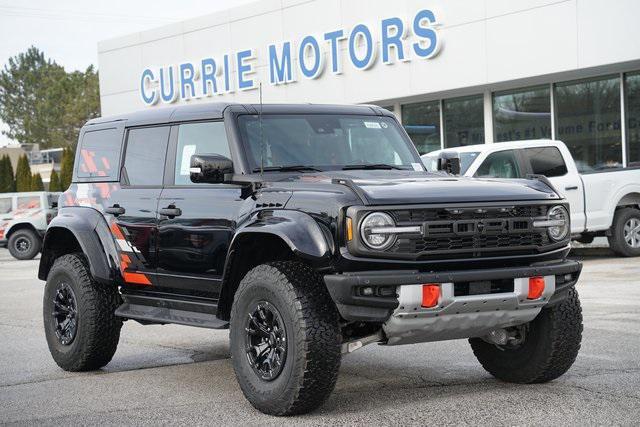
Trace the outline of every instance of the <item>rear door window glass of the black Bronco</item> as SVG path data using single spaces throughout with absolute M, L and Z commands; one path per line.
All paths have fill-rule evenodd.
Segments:
M 123 178 L 129 185 L 162 185 L 169 126 L 130 129 Z

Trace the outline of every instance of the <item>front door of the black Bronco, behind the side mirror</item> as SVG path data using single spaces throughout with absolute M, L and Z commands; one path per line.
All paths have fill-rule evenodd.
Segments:
M 242 204 L 241 188 L 195 184 L 191 156 L 230 157 L 223 122 L 174 126 L 158 218 L 158 282 L 171 292 L 216 298 Z

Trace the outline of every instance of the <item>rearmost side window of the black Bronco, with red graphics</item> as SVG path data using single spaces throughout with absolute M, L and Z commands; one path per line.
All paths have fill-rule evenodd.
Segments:
M 117 180 L 121 142 L 121 133 L 116 128 L 85 132 L 80 143 L 77 177 Z

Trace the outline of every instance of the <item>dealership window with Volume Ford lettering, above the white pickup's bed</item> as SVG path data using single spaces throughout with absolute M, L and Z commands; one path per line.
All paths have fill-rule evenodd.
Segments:
M 560 83 L 554 99 L 556 138 L 567 144 L 578 170 L 622 167 L 620 79 Z

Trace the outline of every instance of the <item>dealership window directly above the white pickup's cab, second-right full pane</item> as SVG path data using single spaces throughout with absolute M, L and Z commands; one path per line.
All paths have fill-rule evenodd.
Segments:
M 493 129 L 496 142 L 551 138 L 549 86 L 494 93 Z

